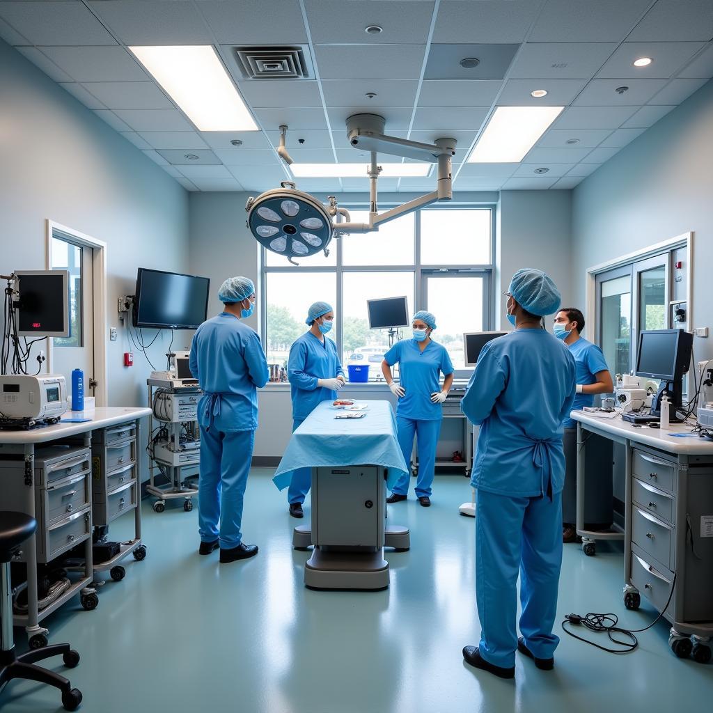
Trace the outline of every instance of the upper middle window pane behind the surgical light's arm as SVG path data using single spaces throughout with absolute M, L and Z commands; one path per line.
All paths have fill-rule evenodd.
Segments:
M 368 222 L 366 210 L 350 210 L 352 222 Z M 352 233 L 342 240 L 344 265 L 413 265 L 414 214 L 402 215 L 379 227 L 378 232 Z

